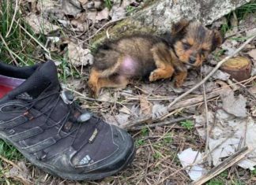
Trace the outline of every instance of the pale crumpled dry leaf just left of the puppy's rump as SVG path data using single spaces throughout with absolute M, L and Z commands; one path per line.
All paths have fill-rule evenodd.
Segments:
M 74 66 L 85 66 L 85 65 L 92 65 L 93 63 L 93 56 L 91 54 L 91 51 L 88 49 L 83 49 L 81 46 L 77 46 L 74 43 L 68 44 L 68 50 L 69 50 L 69 59 L 70 62 Z

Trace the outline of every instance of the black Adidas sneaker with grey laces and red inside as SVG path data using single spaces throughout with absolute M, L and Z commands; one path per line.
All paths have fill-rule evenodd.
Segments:
M 80 109 L 62 91 L 52 61 L 23 68 L 0 63 L 0 139 L 64 179 L 102 179 L 134 158 L 130 135 Z

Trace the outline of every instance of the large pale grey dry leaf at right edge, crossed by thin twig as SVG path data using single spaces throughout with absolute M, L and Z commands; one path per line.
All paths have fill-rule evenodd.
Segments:
M 215 115 L 216 114 L 216 115 Z M 251 117 L 239 118 L 232 114 L 218 109 L 216 113 L 208 112 L 209 116 L 209 150 L 213 160 L 213 165 L 222 162 L 223 157 L 228 157 L 236 152 L 239 147 L 249 146 L 254 148 L 247 158 L 239 162 L 242 168 L 254 169 L 256 160 L 255 147 L 255 122 Z M 200 116 L 194 116 L 195 126 L 202 139 L 205 139 L 205 113 Z

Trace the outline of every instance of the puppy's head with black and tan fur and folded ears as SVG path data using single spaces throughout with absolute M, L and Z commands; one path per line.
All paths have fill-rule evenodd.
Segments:
M 181 20 L 174 24 L 171 36 L 179 61 L 195 67 L 200 66 L 207 56 L 222 43 L 219 31 L 209 30 L 195 21 Z

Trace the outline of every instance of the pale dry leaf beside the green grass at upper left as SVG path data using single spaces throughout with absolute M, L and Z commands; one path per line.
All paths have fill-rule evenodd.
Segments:
M 27 17 L 25 17 L 25 20 L 36 34 L 43 33 L 47 35 L 49 32 L 59 29 L 58 26 L 51 24 L 48 20 L 43 19 L 43 17 L 36 15 L 35 13 L 29 14 Z

